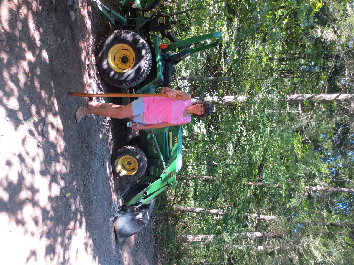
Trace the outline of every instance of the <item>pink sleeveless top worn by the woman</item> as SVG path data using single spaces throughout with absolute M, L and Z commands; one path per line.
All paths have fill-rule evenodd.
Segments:
M 183 117 L 183 112 L 186 107 L 192 104 L 192 100 L 175 100 L 162 96 L 145 96 L 143 100 L 145 124 L 190 122 L 191 118 Z

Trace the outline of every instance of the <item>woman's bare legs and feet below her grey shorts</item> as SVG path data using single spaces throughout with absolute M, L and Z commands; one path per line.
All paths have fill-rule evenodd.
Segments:
M 75 118 L 77 122 L 80 122 L 82 117 L 87 114 L 95 114 L 99 116 L 104 116 L 104 117 L 110 117 L 110 118 L 116 118 L 116 119 L 124 119 L 128 117 L 133 116 L 133 108 L 131 103 L 126 105 L 126 106 L 119 106 L 115 105 L 118 107 L 113 107 L 112 103 L 96 103 L 95 104 L 100 104 L 99 106 L 95 107 L 89 107 L 89 108 L 82 108 L 80 107 L 76 113 L 75 113 Z

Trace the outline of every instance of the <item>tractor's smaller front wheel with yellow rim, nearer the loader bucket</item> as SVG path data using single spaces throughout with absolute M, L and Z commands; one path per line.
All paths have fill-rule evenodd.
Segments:
M 124 146 L 112 157 L 113 174 L 131 181 L 144 175 L 147 165 L 144 152 L 136 146 Z

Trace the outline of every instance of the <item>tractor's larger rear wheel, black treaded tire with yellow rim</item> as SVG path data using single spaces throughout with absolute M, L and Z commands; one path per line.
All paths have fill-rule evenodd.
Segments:
M 129 30 L 116 30 L 98 44 L 96 64 L 105 81 L 115 87 L 130 88 L 148 76 L 152 55 L 141 36 Z

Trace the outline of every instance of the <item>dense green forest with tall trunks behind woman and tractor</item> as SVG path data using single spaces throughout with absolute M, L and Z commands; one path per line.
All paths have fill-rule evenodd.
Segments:
M 157 8 L 179 20 L 179 39 L 223 34 L 179 63 L 172 83 L 215 111 L 184 126 L 177 187 L 155 207 L 166 264 L 353 264 L 353 7 Z

